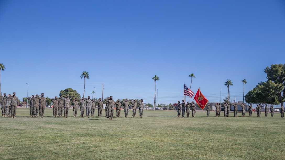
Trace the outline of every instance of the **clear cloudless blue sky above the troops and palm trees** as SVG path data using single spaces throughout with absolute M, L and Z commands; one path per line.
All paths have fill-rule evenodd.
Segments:
M 285 2 L 0 1 L 1 92 L 17 97 L 75 89 L 85 97 L 184 99 L 183 83 L 210 102 L 243 100 L 271 64 L 284 64 Z M 189 100 L 189 98 L 186 98 Z

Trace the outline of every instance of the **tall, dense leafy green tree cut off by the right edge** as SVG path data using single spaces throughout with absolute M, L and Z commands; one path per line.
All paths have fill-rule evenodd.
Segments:
M 266 78 L 268 80 L 278 85 L 276 95 L 282 106 L 285 100 L 285 64 L 272 64 L 270 67 L 266 67 L 264 72 L 267 74 Z

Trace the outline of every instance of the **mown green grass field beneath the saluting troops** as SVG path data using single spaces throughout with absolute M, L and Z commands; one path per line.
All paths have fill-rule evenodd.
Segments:
M 80 112 L 80 110 L 78 110 Z M 223 114 L 223 113 L 222 113 Z M 177 111 L 144 110 L 143 117 L 30 118 L 18 108 L 16 118 L 0 118 L 0 159 L 284 159 L 284 122 L 274 117 L 215 117 L 197 112 L 177 118 Z M 105 116 L 105 112 L 103 111 Z M 80 115 L 79 115 L 80 116 Z M 137 118 L 138 117 L 138 118 Z

